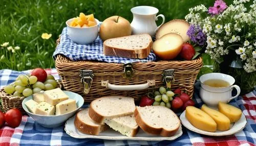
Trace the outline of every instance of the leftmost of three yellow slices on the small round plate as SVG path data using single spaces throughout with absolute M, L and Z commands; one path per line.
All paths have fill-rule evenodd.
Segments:
M 209 132 L 215 132 L 217 130 L 215 120 L 212 119 L 207 113 L 196 107 L 187 106 L 185 116 L 191 125 L 200 130 Z

